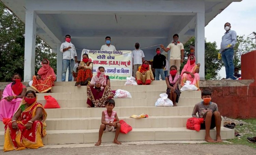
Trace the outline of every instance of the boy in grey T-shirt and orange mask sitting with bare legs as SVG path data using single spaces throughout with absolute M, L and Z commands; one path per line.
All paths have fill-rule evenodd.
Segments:
M 201 129 L 205 129 L 205 138 L 207 142 L 222 142 L 221 139 L 221 114 L 218 111 L 216 103 L 211 102 L 211 91 L 205 89 L 202 91 L 202 102 L 195 105 L 192 116 L 195 118 L 204 118 Z M 198 117 L 196 115 L 198 113 Z M 210 136 L 210 129 L 216 127 L 216 141 Z

